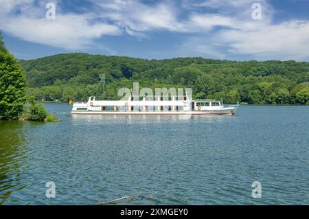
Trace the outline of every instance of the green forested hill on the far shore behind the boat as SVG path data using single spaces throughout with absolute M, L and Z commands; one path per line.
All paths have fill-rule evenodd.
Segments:
M 118 56 L 59 54 L 19 60 L 28 82 L 27 94 L 37 100 L 87 100 L 133 87 L 192 87 L 196 98 L 222 98 L 250 104 L 309 104 L 309 63 L 293 60 L 236 62 L 206 58 L 145 60 Z

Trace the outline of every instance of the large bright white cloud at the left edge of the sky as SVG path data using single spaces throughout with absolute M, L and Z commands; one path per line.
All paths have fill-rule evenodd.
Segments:
M 58 15 L 56 20 L 12 18 L 1 23 L 1 28 L 13 36 L 32 43 L 42 43 L 67 49 L 84 49 L 100 36 L 120 34 L 115 25 L 90 24 L 87 15 Z

